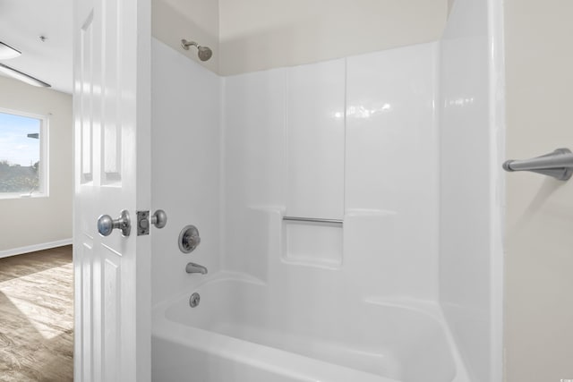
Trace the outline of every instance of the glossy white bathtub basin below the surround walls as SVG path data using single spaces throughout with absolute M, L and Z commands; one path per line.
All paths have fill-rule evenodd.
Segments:
M 312 291 L 281 293 L 244 275 L 196 278 L 154 309 L 154 381 L 468 380 L 432 305 L 339 293 L 317 304 Z M 201 294 L 195 308 L 193 292 Z

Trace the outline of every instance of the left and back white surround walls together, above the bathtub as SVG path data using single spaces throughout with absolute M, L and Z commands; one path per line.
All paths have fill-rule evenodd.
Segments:
M 153 302 L 198 276 L 188 261 L 271 284 L 318 277 L 355 298 L 437 301 L 436 47 L 220 80 L 154 40 L 153 208 L 169 220 L 153 232 Z M 344 229 L 283 215 L 344 219 Z M 202 241 L 184 255 L 187 224 Z

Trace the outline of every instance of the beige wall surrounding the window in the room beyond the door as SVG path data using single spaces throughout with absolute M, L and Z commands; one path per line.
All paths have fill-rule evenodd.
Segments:
M 72 97 L 0 76 L 0 107 L 49 118 L 49 197 L 0 199 L 0 257 L 71 243 Z

